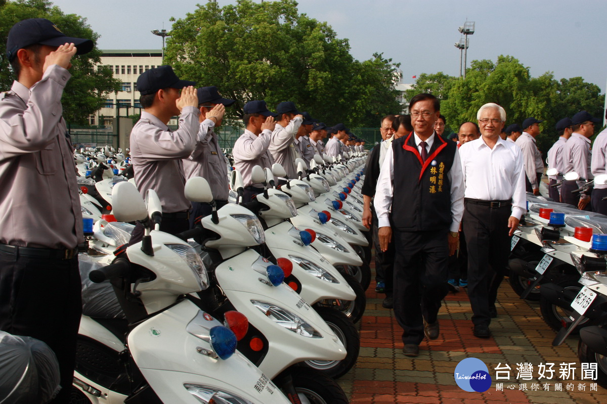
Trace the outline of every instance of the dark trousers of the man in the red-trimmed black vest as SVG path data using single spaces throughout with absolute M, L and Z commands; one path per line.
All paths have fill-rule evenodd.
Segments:
M 447 294 L 447 231 L 401 232 L 393 229 L 394 314 L 402 327 L 402 342 L 424 339 L 424 320 L 435 323 Z

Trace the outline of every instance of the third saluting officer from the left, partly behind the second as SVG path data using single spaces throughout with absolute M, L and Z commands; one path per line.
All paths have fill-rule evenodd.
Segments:
M 217 209 L 228 203 L 228 161 L 219 147 L 219 138 L 214 128 L 222 123 L 225 107 L 236 101 L 223 98 L 217 87 L 200 87 L 196 90 L 198 109 L 200 110 L 200 126 L 194 152 L 183 160 L 183 170 L 186 181 L 192 177 L 203 177 L 211 187 L 211 193 Z M 210 215 L 211 204 L 192 202 L 190 211 L 190 227 L 194 227 L 195 220 Z

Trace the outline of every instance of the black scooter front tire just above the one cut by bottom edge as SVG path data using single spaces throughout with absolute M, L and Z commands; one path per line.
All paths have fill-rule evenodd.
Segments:
M 328 377 L 337 379 L 349 372 L 356 364 L 361 349 L 361 337 L 354 324 L 342 312 L 329 307 L 314 309 L 344 344 L 346 356 L 342 360 L 307 360 L 304 365 L 315 371 L 320 371 Z

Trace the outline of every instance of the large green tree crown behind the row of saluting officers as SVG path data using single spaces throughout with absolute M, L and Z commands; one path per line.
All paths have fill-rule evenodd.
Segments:
M 348 40 L 299 14 L 294 0 L 198 5 L 174 22 L 164 55 L 178 75 L 237 99 L 234 115 L 251 99 L 270 109 L 294 101 L 317 119 L 353 126 L 376 126 L 386 110 L 400 110 L 398 64 L 378 54 L 354 60 Z

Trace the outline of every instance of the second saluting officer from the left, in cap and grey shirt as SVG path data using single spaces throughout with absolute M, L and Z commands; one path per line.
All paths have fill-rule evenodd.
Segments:
M 141 118 L 131 130 L 131 162 L 141 195 L 154 189 L 162 203 L 160 230 L 176 234 L 189 229 L 190 203 L 184 195 L 185 177 L 181 159 L 191 155 L 198 133 L 198 97 L 193 81 L 180 80 L 171 66 L 144 72 L 137 79 Z M 180 89 L 183 89 L 180 95 Z M 166 124 L 179 115 L 179 129 Z M 143 237 L 137 224 L 129 243 Z

